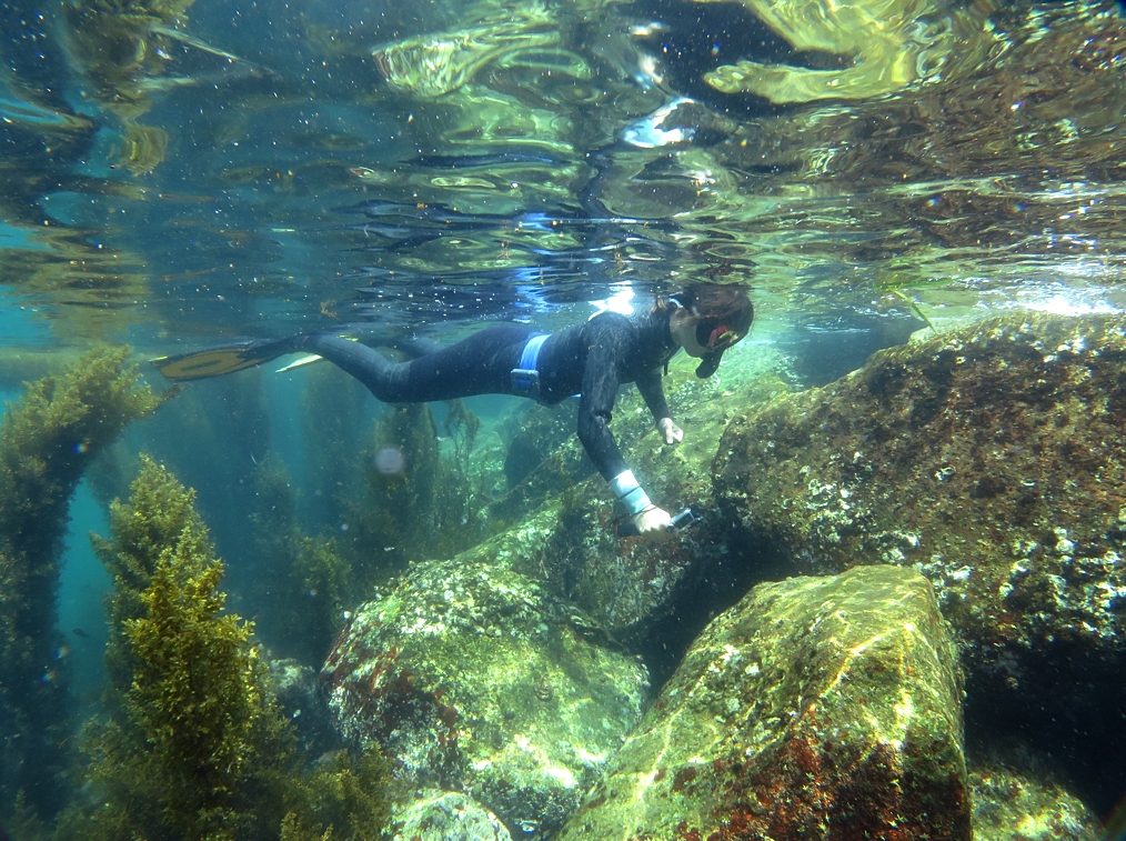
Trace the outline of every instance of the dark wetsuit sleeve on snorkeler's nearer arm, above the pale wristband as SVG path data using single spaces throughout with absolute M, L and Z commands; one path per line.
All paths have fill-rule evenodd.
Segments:
M 631 337 L 627 329 L 616 325 L 591 330 L 591 333 L 582 375 L 582 396 L 579 397 L 579 440 L 602 478 L 611 482 L 626 469 L 609 426 L 622 382 L 618 366 L 628 351 Z

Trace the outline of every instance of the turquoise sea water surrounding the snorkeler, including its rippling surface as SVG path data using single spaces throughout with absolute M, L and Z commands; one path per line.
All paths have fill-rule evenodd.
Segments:
M 685 386 L 695 411 L 760 375 L 832 383 L 912 333 L 1123 312 L 1118 3 L 807 8 L 9 0 L 0 392 L 18 401 L 105 347 L 127 345 L 166 392 L 148 360 L 212 345 L 342 324 L 440 342 L 497 323 L 551 331 L 644 312 L 689 280 L 745 284 L 751 339 L 715 391 Z M 43 674 L 64 686 L 48 740 L 75 740 L 63 752 L 113 715 L 113 579 L 88 533 L 109 536 L 141 453 L 194 489 L 227 609 L 257 623 L 269 657 L 316 670 L 345 612 L 410 563 L 590 487 L 578 449 L 556 447 L 577 447 L 573 408 L 547 421 L 481 396 L 470 421 L 436 404 L 408 422 L 328 365 L 278 373 L 287 361 L 186 385 L 83 466 L 45 561 L 54 615 L 36 628 L 56 661 Z M 379 484 L 392 432 L 437 490 Z M 539 459 L 531 480 L 512 481 L 513 451 Z M 306 538 L 331 538 L 354 576 L 331 610 L 327 585 L 294 584 Z M 306 607 L 333 633 L 297 638 L 291 612 Z M 642 652 L 652 674 L 688 642 Z M 45 823 L 25 822 L 17 731 L 2 733 L 0 825 L 47 838 L 83 781 L 52 771 L 32 794 Z M 339 748 L 318 739 L 319 754 Z M 1087 770 L 1106 782 L 1080 795 L 1106 820 L 1126 780 Z

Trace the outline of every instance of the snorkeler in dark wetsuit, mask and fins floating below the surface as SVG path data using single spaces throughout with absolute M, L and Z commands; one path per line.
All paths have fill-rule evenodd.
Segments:
M 712 376 L 723 351 L 747 335 L 753 319 L 743 287 L 692 284 L 638 317 L 602 312 L 549 334 L 501 324 L 403 363 L 385 359 L 354 337 L 324 332 L 164 357 L 153 365 L 170 379 L 186 381 L 307 351 L 356 377 L 384 403 L 512 394 L 553 405 L 579 395 L 579 440 L 637 533 L 652 538 L 668 534 L 670 517 L 642 490 L 609 430 L 618 388 L 636 383 L 664 442 L 679 444 L 683 431 L 664 400 L 662 368 L 683 348 L 700 360 L 696 376 Z M 391 345 L 409 355 L 410 346 Z

